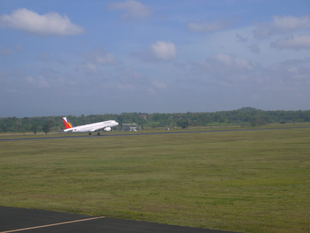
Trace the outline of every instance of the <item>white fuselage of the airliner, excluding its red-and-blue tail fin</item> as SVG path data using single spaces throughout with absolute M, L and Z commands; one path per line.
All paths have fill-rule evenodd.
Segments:
M 64 132 L 69 132 L 69 133 L 88 133 L 88 132 L 95 132 L 95 131 L 106 131 L 104 130 L 105 128 L 111 130 L 110 128 L 118 126 L 118 122 L 116 121 L 102 121 L 102 122 L 97 122 L 89 125 L 83 125 L 83 126 L 76 126 L 73 128 L 69 128 L 64 130 Z M 107 130 L 107 131 L 109 131 Z

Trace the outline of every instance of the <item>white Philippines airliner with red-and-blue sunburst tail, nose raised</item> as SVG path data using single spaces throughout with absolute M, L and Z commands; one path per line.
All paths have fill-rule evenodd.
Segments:
M 73 126 L 73 124 L 67 119 L 67 117 L 63 117 L 64 119 L 64 124 L 67 129 L 64 130 L 64 132 L 68 133 L 87 133 L 91 135 L 92 132 L 99 131 L 97 135 L 100 135 L 100 130 L 108 132 L 108 131 L 113 131 L 112 127 L 118 126 L 118 122 L 116 121 L 102 121 L 102 122 L 97 122 L 89 125 L 83 125 L 83 126 Z

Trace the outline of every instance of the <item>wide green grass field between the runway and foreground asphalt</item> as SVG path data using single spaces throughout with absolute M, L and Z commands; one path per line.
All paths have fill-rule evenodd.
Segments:
M 0 205 L 310 231 L 310 129 L 0 142 Z

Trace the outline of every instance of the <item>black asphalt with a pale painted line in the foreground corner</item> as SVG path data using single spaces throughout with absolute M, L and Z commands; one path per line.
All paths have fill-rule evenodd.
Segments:
M 0 233 L 4 232 L 236 233 L 232 231 L 176 226 L 155 222 L 143 222 L 108 217 L 98 218 L 98 216 L 89 216 L 84 214 L 0 206 Z

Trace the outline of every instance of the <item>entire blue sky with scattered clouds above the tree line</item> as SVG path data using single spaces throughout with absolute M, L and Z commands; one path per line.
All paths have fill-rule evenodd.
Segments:
M 0 0 L 0 117 L 310 109 L 309 0 Z

